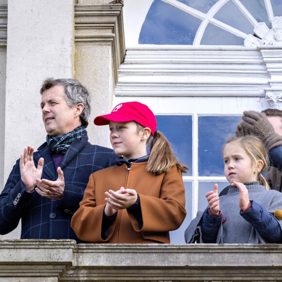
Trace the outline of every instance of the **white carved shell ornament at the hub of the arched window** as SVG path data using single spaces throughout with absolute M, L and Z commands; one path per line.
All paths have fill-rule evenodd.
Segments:
M 248 35 L 245 46 L 282 45 L 282 17 L 275 17 L 271 21 L 271 29 L 264 22 L 259 22 L 254 28 L 254 35 Z

